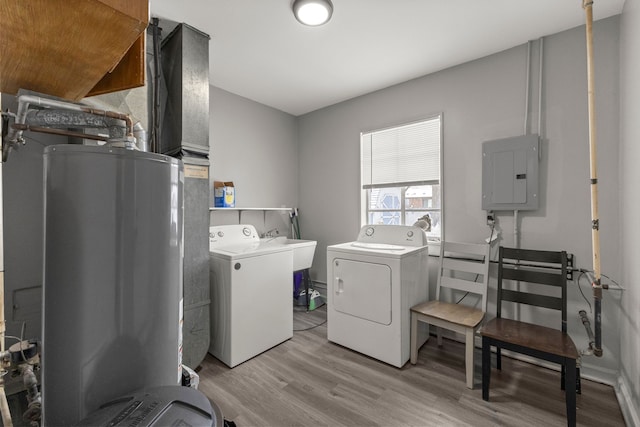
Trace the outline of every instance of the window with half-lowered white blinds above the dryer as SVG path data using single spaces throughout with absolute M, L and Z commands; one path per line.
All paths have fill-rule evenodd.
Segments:
M 442 116 L 365 132 L 360 138 L 362 224 L 430 223 L 442 235 Z

